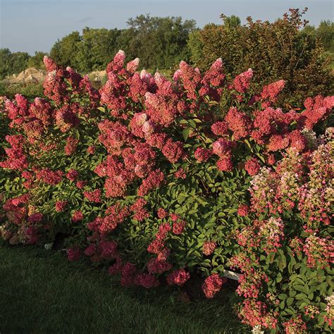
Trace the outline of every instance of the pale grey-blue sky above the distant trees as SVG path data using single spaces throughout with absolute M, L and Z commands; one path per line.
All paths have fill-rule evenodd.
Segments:
M 0 0 L 0 47 L 11 51 L 49 51 L 57 39 L 84 27 L 125 28 L 128 18 L 182 16 L 199 27 L 221 23 L 221 13 L 274 21 L 289 8 L 308 7 L 311 25 L 333 21 L 331 0 Z

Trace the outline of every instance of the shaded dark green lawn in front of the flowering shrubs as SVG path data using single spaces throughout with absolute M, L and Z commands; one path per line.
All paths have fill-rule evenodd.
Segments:
M 0 242 L 0 333 L 247 333 L 231 292 L 181 302 L 172 287 L 123 288 L 60 252 Z

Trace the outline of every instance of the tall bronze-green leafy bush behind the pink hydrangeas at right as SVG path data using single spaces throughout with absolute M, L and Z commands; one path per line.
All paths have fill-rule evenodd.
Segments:
M 331 94 L 334 82 L 321 41 L 301 30 L 307 24 L 302 20 L 304 12 L 290 9 L 290 15 L 274 23 L 254 22 L 249 17 L 243 26 L 206 25 L 190 37 L 190 58 L 207 69 L 221 57 L 232 77 L 252 68 L 256 92 L 269 82 L 284 79 L 280 105 L 300 108 L 305 97 Z

